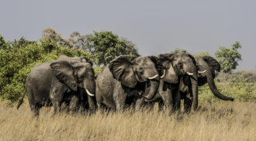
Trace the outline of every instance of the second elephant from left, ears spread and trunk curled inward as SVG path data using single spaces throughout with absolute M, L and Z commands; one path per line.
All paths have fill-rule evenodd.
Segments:
M 120 55 L 106 65 L 96 79 L 96 100 L 99 109 L 102 106 L 123 111 L 130 99 L 148 89 L 145 99 L 152 99 L 159 86 L 154 56 Z

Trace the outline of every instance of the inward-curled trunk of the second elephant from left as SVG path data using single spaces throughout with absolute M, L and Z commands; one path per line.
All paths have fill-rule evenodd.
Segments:
M 148 92 L 148 89 L 145 88 L 145 93 L 142 96 L 147 100 L 153 99 L 157 93 L 158 86 L 159 86 L 159 82 L 157 80 L 155 79 L 150 80 L 150 90 Z

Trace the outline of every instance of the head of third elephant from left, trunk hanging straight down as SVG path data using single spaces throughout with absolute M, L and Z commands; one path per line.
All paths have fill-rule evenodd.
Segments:
M 178 83 L 182 77 L 187 77 L 192 84 L 193 108 L 198 106 L 197 66 L 192 55 L 185 53 L 166 53 L 157 56 L 163 64 L 161 79 L 168 83 Z

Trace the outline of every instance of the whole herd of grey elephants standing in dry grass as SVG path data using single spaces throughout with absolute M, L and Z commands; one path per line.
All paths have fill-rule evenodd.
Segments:
M 42 106 L 63 107 L 68 111 L 116 109 L 127 106 L 141 109 L 154 106 L 174 112 L 198 107 L 198 87 L 208 83 L 213 94 L 223 100 L 214 78 L 220 64 L 210 56 L 194 57 L 187 53 L 165 53 L 157 56 L 119 55 L 97 76 L 86 57 L 61 55 L 52 62 L 36 65 L 26 79 L 29 106 L 38 116 Z M 20 99 L 17 109 L 22 104 Z

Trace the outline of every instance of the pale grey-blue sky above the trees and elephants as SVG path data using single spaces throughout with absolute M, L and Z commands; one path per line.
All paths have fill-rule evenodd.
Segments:
M 210 55 L 219 46 L 242 45 L 238 70 L 256 69 L 254 0 L 0 0 L 0 34 L 38 40 L 43 29 L 63 38 L 78 31 L 112 31 L 135 43 L 141 55 L 176 48 Z

